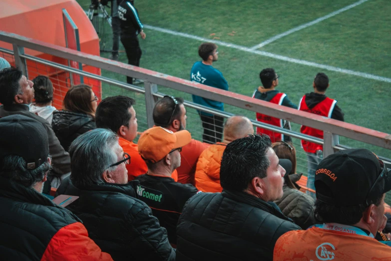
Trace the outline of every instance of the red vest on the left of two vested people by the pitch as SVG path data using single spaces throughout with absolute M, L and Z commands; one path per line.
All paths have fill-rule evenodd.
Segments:
M 255 92 L 253 94 L 253 98 L 254 98 L 254 95 L 255 95 Z M 287 94 L 285 94 L 285 93 L 279 92 L 270 100 L 270 102 L 281 105 L 282 101 L 284 100 L 286 95 Z M 269 115 L 265 115 L 265 114 L 262 114 L 259 112 L 257 112 L 257 120 L 260 122 L 274 125 L 274 126 L 279 126 L 279 127 L 284 126 L 283 120 L 281 118 L 271 117 Z M 276 142 L 276 140 L 284 139 L 284 134 L 281 134 L 278 132 L 273 132 L 271 130 L 263 129 L 260 127 L 257 127 L 257 133 L 264 133 L 264 134 L 269 135 L 272 142 Z

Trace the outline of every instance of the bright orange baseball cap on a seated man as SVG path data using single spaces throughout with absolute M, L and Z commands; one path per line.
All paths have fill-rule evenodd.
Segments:
M 138 139 L 138 153 L 144 160 L 157 162 L 174 148 L 182 147 L 191 141 L 187 130 L 172 132 L 162 127 L 145 130 Z

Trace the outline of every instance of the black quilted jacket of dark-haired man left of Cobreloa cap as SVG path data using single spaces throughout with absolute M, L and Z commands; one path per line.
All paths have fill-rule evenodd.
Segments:
M 278 209 L 244 192 L 199 193 L 177 225 L 177 260 L 273 260 L 277 239 L 300 227 Z

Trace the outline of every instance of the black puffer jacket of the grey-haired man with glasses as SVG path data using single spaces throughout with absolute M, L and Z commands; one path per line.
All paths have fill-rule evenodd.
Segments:
M 135 198 L 134 186 L 138 183 L 106 183 L 79 189 L 67 177 L 57 193 L 79 196 L 67 208 L 83 221 L 91 239 L 115 261 L 175 260 L 167 230 L 160 226 L 151 209 Z

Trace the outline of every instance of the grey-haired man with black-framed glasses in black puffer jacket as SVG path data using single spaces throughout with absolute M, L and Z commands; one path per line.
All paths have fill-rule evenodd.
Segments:
M 114 260 L 175 260 L 167 231 L 151 209 L 138 200 L 128 182 L 117 135 L 97 128 L 78 136 L 70 145 L 72 173 L 61 183 L 59 194 L 78 195 L 68 209 L 84 223 L 96 244 Z

